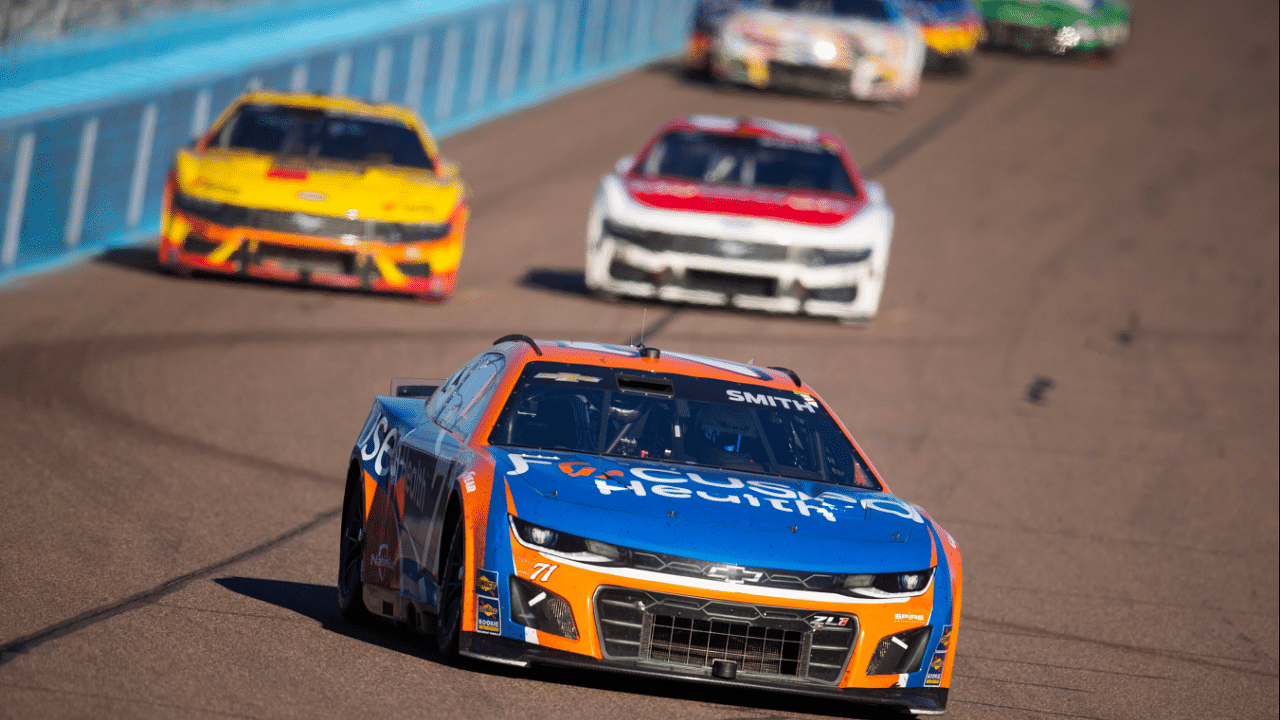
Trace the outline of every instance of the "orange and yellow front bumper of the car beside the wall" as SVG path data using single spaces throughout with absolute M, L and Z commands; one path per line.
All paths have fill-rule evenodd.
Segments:
M 439 300 L 454 291 L 466 220 L 462 209 L 442 240 L 385 245 L 229 227 L 166 208 L 157 255 L 169 268 Z

